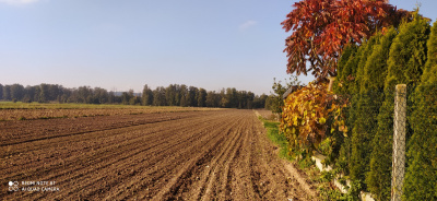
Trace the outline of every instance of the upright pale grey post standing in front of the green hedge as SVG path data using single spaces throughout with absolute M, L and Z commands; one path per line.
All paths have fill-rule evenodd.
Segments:
M 406 85 L 395 86 L 391 201 L 400 201 L 405 173 Z

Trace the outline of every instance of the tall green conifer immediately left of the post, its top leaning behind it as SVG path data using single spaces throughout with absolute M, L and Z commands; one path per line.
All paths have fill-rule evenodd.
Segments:
M 394 86 L 397 84 L 414 86 L 418 83 L 426 62 L 426 43 L 429 32 L 428 21 L 416 13 L 412 22 L 400 25 L 399 34 L 390 47 L 387 61 L 388 73 L 385 81 L 385 102 L 378 115 L 378 129 L 374 140 L 375 149 L 368 174 L 369 190 L 378 200 L 390 199 Z M 371 178 L 377 177 L 385 182 L 375 182 L 375 180 L 371 182 Z

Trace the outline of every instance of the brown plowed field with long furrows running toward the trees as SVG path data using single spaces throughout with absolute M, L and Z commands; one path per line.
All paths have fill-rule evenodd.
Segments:
M 0 121 L 0 200 L 314 200 L 264 132 L 236 109 Z

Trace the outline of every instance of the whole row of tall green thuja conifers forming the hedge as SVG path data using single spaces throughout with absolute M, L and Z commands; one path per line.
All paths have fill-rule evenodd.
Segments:
M 429 33 L 429 22 L 415 14 L 412 22 L 377 34 L 359 47 L 346 46 L 339 60 L 334 92 L 349 94 L 351 104 L 346 109 L 349 138 L 344 140 L 336 165 L 377 200 L 390 199 L 394 86 L 408 84 L 414 88 L 420 83 L 435 85 L 417 87 L 409 97 L 412 107 L 408 114 L 411 131 L 408 137 L 412 138 L 408 139 L 404 199 L 436 199 L 437 39 L 434 35 L 428 39 Z M 417 180 L 427 197 L 415 193 Z

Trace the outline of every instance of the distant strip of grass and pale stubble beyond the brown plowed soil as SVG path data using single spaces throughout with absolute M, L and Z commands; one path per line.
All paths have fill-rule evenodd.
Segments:
M 92 104 L 40 104 L 0 102 L 0 121 L 54 118 L 78 118 L 155 113 L 217 110 L 216 108 L 92 105 Z

